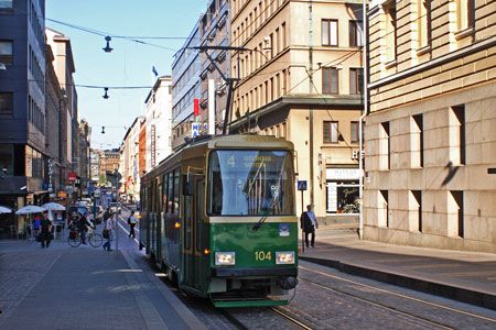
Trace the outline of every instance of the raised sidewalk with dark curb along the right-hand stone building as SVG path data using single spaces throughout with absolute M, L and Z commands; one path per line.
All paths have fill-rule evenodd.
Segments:
M 300 260 L 496 310 L 496 254 L 360 241 L 343 228 L 315 238 Z

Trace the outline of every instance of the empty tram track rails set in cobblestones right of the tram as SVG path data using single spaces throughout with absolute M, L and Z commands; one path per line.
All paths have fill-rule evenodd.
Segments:
M 308 271 L 310 273 L 313 273 L 313 274 L 317 274 L 317 275 L 322 275 L 322 276 L 332 278 L 332 279 L 342 280 L 342 282 L 345 282 L 347 284 L 357 285 L 357 286 L 364 287 L 366 289 L 371 289 L 371 290 L 375 290 L 375 292 L 378 292 L 378 293 L 381 293 L 381 294 L 390 295 L 390 296 L 393 296 L 396 298 L 408 299 L 408 300 L 414 301 L 417 304 L 423 304 L 423 305 L 427 305 L 429 307 L 443 309 L 445 311 L 449 311 L 449 312 L 452 312 L 452 314 L 456 314 L 459 316 L 475 318 L 475 319 L 478 319 L 481 321 L 492 323 L 492 324 L 494 324 L 494 327 L 496 327 L 496 319 L 494 319 L 494 318 L 488 318 L 488 317 L 485 317 L 485 316 L 476 315 L 476 314 L 468 312 L 468 311 L 461 310 L 461 309 L 456 309 L 456 308 L 453 308 L 453 307 L 448 307 L 448 306 L 443 306 L 443 305 L 440 305 L 440 304 L 436 304 L 436 302 L 427 301 L 427 300 L 423 300 L 423 299 L 420 299 L 420 298 L 410 297 L 410 296 L 402 295 L 402 294 L 399 294 L 399 293 L 395 293 L 395 292 L 391 292 L 391 290 L 388 290 L 388 289 L 384 289 L 384 288 L 375 287 L 375 286 L 371 286 L 371 285 L 367 285 L 367 284 L 357 282 L 357 280 L 344 278 L 344 277 L 341 277 L 341 276 L 336 276 L 336 275 L 333 275 L 333 274 L 327 274 L 327 273 L 315 271 L 315 270 L 310 270 L 310 268 L 301 266 L 301 265 L 300 265 L 300 268 L 304 270 L 304 271 Z M 370 306 L 375 306 L 375 307 L 378 307 L 378 308 L 381 308 L 381 309 L 385 309 L 385 310 L 388 310 L 388 311 L 391 311 L 391 312 L 396 312 L 396 314 L 402 315 L 402 316 L 408 317 L 408 318 L 412 318 L 412 319 L 417 319 L 417 320 L 421 320 L 421 321 L 428 322 L 429 324 L 434 326 L 434 327 L 439 327 L 441 329 L 455 329 L 452 326 L 446 326 L 446 324 L 441 323 L 439 321 L 435 321 L 435 320 L 432 320 L 432 319 L 428 319 L 425 317 L 422 317 L 422 316 L 419 316 L 419 315 L 414 315 L 414 314 L 406 311 L 406 310 L 400 310 L 398 307 L 387 306 L 386 304 L 377 302 L 377 301 L 374 301 L 371 299 L 367 299 L 367 298 L 360 297 L 360 296 L 358 296 L 356 294 L 352 294 L 349 292 L 346 292 L 346 290 L 343 290 L 343 289 L 338 289 L 336 287 L 331 287 L 328 285 L 316 283 L 314 280 L 304 278 L 301 275 L 299 277 L 299 280 L 308 283 L 310 285 L 313 285 L 313 286 L 315 286 L 315 287 L 317 287 L 320 289 L 324 289 L 324 290 L 327 290 L 327 292 L 333 292 L 333 293 L 337 293 L 337 294 L 341 294 L 341 295 L 345 295 L 347 297 L 351 297 L 351 298 L 353 298 L 355 300 L 359 300 L 362 302 L 368 304 Z

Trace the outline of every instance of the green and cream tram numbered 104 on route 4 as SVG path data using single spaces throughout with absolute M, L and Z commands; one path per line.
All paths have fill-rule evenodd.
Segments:
M 140 248 L 216 307 L 289 304 L 298 284 L 293 144 L 201 136 L 141 178 Z

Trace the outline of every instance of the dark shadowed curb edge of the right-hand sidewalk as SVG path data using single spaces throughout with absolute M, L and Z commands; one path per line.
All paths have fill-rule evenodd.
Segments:
M 484 289 L 456 286 L 453 284 L 442 283 L 440 279 L 422 278 L 421 276 L 405 274 L 397 271 L 378 270 L 371 265 L 363 266 L 349 262 L 345 263 L 336 260 L 325 260 L 310 256 L 299 256 L 299 258 L 336 268 L 351 275 L 357 275 L 417 292 L 496 310 L 496 295 L 484 292 Z

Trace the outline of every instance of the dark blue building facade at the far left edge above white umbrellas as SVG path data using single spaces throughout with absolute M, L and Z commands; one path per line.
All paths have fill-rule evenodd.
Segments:
M 0 8 L 0 205 L 48 200 L 44 188 L 45 1 L 2 1 Z M 23 217 L 0 217 L 8 232 Z

